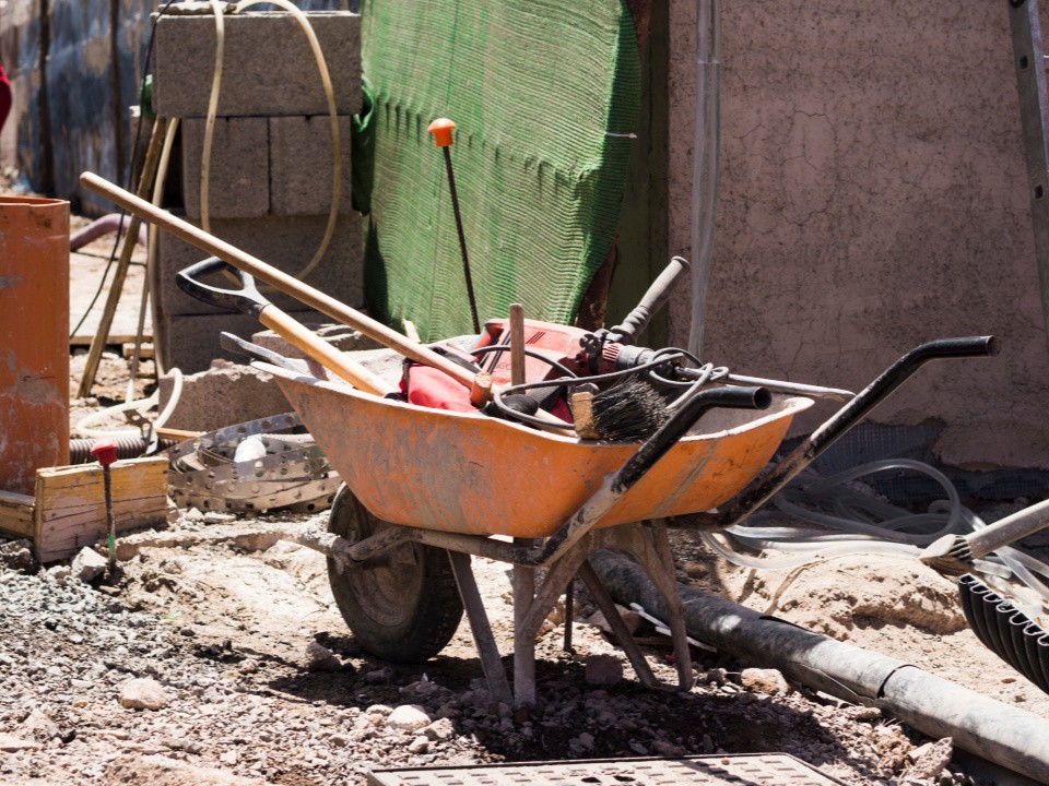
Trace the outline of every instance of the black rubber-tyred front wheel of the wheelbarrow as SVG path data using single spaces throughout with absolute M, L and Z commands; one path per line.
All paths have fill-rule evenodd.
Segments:
M 390 526 L 372 515 L 345 485 L 339 489 L 328 532 L 356 543 Z M 462 600 L 444 549 L 409 543 L 364 563 L 329 558 L 328 581 L 354 638 L 384 660 L 434 657 L 462 619 Z

